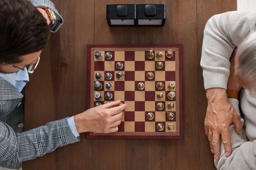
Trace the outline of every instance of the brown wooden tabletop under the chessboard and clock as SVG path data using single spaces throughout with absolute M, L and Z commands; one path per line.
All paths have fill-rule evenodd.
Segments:
M 228 10 L 227 0 L 54 0 L 64 18 L 51 35 L 26 87 L 25 128 L 41 126 L 86 108 L 87 44 L 183 44 L 184 139 L 88 140 L 26 161 L 23 169 L 215 169 L 204 135 L 206 110 L 200 58 L 206 21 Z M 106 5 L 165 3 L 164 27 L 109 27 Z

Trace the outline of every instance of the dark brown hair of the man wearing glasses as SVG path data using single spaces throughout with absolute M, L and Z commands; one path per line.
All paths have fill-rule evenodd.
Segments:
M 42 50 L 49 25 L 28 0 L 0 1 L 0 62 L 20 63 L 20 56 Z

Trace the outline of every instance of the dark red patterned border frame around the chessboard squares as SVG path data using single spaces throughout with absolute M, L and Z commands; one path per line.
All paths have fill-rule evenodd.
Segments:
M 176 82 L 179 90 L 177 96 L 179 99 L 177 102 L 177 132 L 176 133 L 167 133 L 167 132 L 116 132 L 116 133 L 87 133 L 87 139 L 183 139 L 183 109 L 182 109 L 182 44 L 88 44 L 87 45 L 87 109 L 94 107 L 94 56 L 95 50 L 104 50 L 104 51 L 115 51 L 115 50 L 144 50 L 153 48 L 156 50 L 168 50 L 169 48 L 176 50 L 178 52 L 176 61 Z

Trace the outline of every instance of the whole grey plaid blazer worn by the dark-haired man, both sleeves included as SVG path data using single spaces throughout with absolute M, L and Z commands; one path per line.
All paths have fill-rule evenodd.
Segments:
M 48 0 L 31 0 L 35 7 L 54 10 L 56 32 L 63 23 L 54 4 Z M 22 161 L 33 160 L 53 152 L 56 148 L 79 141 L 68 126 L 68 118 L 49 122 L 29 131 L 23 131 L 24 96 L 11 83 L 0 78 L 0 167 L 19 169 Z

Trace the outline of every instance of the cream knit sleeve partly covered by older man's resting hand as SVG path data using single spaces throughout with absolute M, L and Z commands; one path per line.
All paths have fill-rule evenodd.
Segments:
M 228 99 L 236 112 L 240 115 L 237 99 Z M 241 118 L 242 123 L 244 120 Z M 248 141 L 245 133 L 238 135 L 234 125 L 230 126 L 231 155 L 226 158 L 221 144 L 221 157 L 215 160 L 217 169 L 256 169 L 256 141 Z

